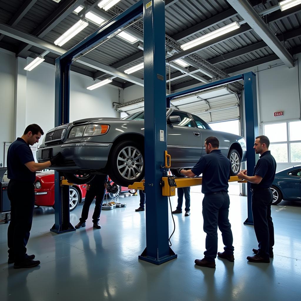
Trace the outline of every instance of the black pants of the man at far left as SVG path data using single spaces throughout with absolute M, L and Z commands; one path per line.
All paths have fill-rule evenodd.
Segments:
M 8 256 L 15 262 L 26 258 L 26 245 L 33 222 L 35 190 L 30 182 L 11 179 L 7 188 L 11 201 L 11 222 L 8 225 Z

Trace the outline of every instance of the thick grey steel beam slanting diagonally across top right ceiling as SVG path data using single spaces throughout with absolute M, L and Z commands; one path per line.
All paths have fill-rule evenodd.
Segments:
M 254 31 L 265 41 L 275 54 L 287 65 L 294 67 L 294 60 L 287 49 L 281 44 L 277 37 L 271 32 L 262 18 L 254 10 L 247 0 L 227 0 L 235 8 L 242 18 L 254 29 Z

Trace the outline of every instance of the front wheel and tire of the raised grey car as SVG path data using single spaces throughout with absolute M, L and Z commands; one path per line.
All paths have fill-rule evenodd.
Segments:
M 144 146 L 132 140 L 116 144 L 109 166 L 109 177 L 116 184 L 127 187 L 141 182 L 144 177 Z

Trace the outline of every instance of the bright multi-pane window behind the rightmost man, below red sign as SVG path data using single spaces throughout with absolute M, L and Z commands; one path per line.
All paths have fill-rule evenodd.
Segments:
M 263 125 L 264 135 L 270 139 L 272 155 L 278 163 L 301 162 L 301 121 L 286 121 Z

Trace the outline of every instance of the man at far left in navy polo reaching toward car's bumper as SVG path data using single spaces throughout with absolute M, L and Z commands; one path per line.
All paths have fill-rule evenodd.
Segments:
M 62 160 L 62 155 L 59 153 L 50 161 L 35 162 L 29 145 L 38 142 L 43 134 L 40 126 L 31 124 L 27 126 L 23 136 L 17 138 L 8 148 L 7 171 L 10 181 L 7 193 L 11 202 L 8 263 L 14 263 L 14 268 L 32 268 L 40 264 L 39 260 L 33 260 L 35 255 L 26 254 L 35 203 L 33 183 L 36 179 L 36 171 L 58 164 Z

